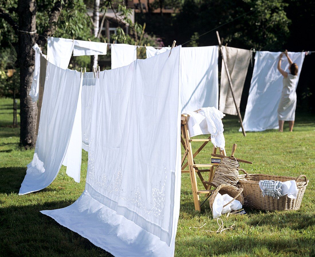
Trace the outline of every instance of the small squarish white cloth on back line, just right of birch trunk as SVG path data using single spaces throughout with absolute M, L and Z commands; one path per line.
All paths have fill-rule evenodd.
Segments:
M 112 44 L 112 69 L 129 65 L 137 60 L 137 46 L 129 44 Z

